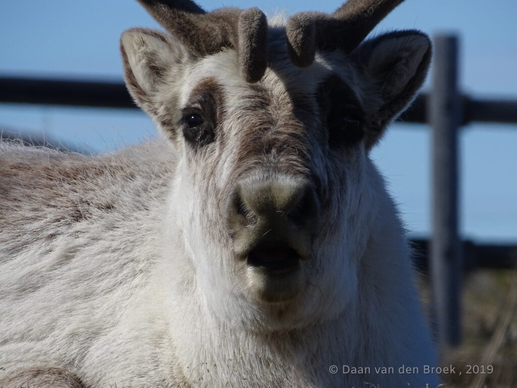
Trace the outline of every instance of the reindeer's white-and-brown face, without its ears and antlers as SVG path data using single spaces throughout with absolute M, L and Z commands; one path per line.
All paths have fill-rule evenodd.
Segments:
M 276 59 L 254 84 L 235 71 L 232 51 L 194 65 L 172 137 L 186 168 L 180 187 L 197 197 L 186 218 L 200 220 L 195 256 L 219 252 L 203 264 L 207 277 L 222 259 L 218 278 L 230 274 L 233 293 L 260 304 L 307 303 L 321 297 L 332 268 L 346 267 L 342 247 L 331 255 L 324 240 L 343 234 L 342 200 L 362 171 L 364 118 L 352 87 L 323 58 L 307 69 L 285 52 Z M 343 93 L 347 110 L 333 106 L 333 93 Z

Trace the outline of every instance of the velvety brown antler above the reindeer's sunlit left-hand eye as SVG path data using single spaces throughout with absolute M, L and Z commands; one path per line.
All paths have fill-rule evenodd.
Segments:
M 195 56 L 233 47 L 242 77 L 262 78 L 267 67 L 267 19 L 258 8 L 223 8 L 206 13 L 190 0 L 138 0 L 167 31 Z

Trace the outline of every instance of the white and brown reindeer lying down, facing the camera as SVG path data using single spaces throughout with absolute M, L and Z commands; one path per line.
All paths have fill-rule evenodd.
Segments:
M 401 0 L 139 2 L 169 34 L 121 36 L 125 80 L 166 140 L 2 145 L 0 386 L 436 386 L 369 156 L 430 63 L 419 31 L 365 40 Z

